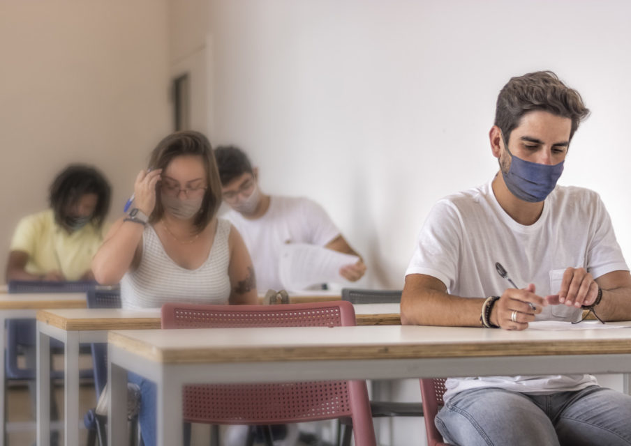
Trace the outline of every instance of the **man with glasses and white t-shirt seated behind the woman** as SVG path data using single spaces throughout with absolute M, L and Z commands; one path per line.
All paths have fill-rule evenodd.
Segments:
M 303 197 L 268 195 L 258 185 L 258 169 L 235 146 L 215 149 L 223 201 L 231 210 L 224 215 L 241 233 L 252 256 L 260 291 L 283 289 L 279 277 L 283 243 L 308 243 L 359 256 L 341 235 L 325 210 Z M 351 282 L 366 272 L 360 259 L 344 266 L 340 275 Z

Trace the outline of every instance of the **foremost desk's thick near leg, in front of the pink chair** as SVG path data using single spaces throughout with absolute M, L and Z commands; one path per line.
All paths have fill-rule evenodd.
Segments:
M 181 445 L 183 438 L 182 385 L 175 369 L 163 365 L 158 385 L 158 446 Z

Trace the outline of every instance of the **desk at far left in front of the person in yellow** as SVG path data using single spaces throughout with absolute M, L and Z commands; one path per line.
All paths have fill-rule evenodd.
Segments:
M 43 308 L 84 308 L 85 293 L 0 293 L 0 345 L 6 345 L 5 325 L 7 319 L 34 318 Z M 0 401 L 4 401 L 5 355 L 0 355 Z M 0 446 L 4 446 L 6 413 L 0 403 Z

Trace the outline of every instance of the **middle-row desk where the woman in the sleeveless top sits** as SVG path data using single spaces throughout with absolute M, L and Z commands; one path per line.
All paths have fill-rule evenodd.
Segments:
M 309 295 L 307 298 L 313 298 Z M 302 300 L 304 302 L 304 300 Z M 400 323 L 399 304 L 361 304 L 355 305 L 357 323 L 393 324 Z M 41 310 L 38 320 L 38 444 L 47 445 L 47 432 L 50 430 L 50 395 L 49 382 L 44 379 L 50 374 L 46 367 L 47 351 L 50 338 L 66 344 L 64 351 L 65 417 L 66 445 L 78 442 L 79 425 L 79 344 L 87 342 L 106 342 L 108 330 L 148 330 L 160 328 L 160 309 L 56 309 Z M 40 403 L 41 401 L 41 403 Z

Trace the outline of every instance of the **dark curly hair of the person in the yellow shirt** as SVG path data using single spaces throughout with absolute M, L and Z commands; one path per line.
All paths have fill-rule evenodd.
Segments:
M 98 197 L 91 222 L 101 227 L 110 210 L 112 187 L 98 169 L 85 164 L 70 164 L 61 171 L 50 185 L 50 207 L 57 224 L 64 226 L 67 210 L 84 194 Z

